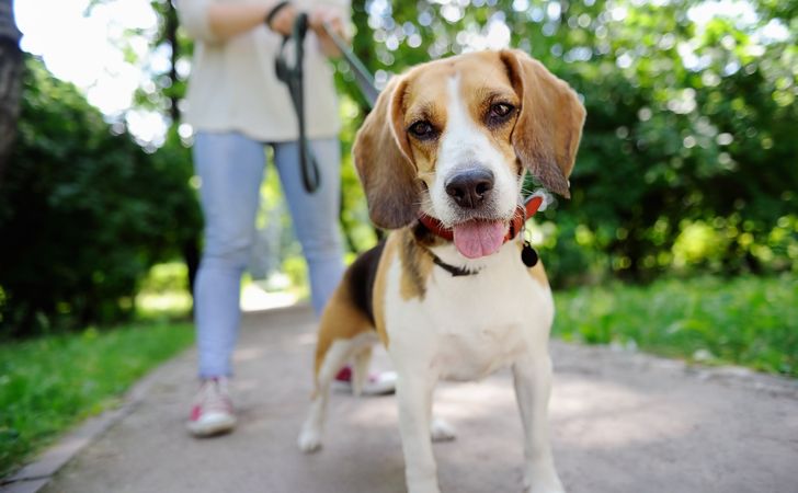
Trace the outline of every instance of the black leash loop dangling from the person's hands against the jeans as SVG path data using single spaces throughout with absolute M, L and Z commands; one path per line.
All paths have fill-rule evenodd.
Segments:
M 303 83 L 305 46 L 303 43 L 305 42 L 307 31 L 308 15 L 305 12 L 300 12 L 294 22 L 292 35 L 283 38 L 283 45 L 280 48 L 274 65 L 277 79 L 288 87 L 290 101 L 294 103 L 294 111 L 299 123 L 299 168 L 303 173 L 303 184 L 308 193 L 314 193 L 321 185 L 321 175 L 319 174 L 319 165 L 316 162 L 316 157 L 308 146 L 308 139 L 305 134 L 305 88 Z M 285 49 L 289 43 L 294 45 L 293 66 L 288 64 L 285 56 Z

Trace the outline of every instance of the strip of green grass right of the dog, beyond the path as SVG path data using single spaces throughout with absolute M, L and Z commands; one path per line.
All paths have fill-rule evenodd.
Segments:
M 798 278 L 699 277 L 555 295 L 554 332 L 705 364 L 798 377 Z

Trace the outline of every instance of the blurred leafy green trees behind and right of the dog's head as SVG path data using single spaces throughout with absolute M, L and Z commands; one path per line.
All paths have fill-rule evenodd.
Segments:
M 607 272 L 649 279 L 685 263 L 729 273 L 790 268 L 798 260 L 796 8 L 759 1 L 754 21 L 716 15 L 699 25 L 688 13 L 702 5 L 356 1 L 354 45 L 385 80 L 509 42 L 580 92 L 588 121 L 573 199 L 537 219 L 560 283 Z M 344 71 L 351 91 L 347 79 Z M 696 228 L 706 233 L 700 245 Z

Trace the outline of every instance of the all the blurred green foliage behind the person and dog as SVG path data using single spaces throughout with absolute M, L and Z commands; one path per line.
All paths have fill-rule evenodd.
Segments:
M 733 4 L 744 12 L 686 0 L 355 0 L 353 48 L 383 85 L 418 62 L 513 46 L 580 93 L 588 121 L 573 197 L 531 221 L 556 287 L 795 273 L 798 3 Z M 148 68 L 132 111 L 163 115 L 169 131 L 159 141 L 137 141 L 124 119 L 103 118 L 75 87 L 26 60 L 19 137 L 0 177 L 2 336 L 129 318 L 163 262 L 185 263 L 170 272 L 191 284 L 202 218 L 180 110 L 192 46 L 172 4 L 151 5 L 157 32 L 129 35 L 146 34 L 169 64 Z M 345 64 L 334 64 L 341 225 L 354 254 L 377 238 L 350 159 L 367 107 Z M 301 285 L 276 180 L 263 196 L 255 277 L 287 273 Z

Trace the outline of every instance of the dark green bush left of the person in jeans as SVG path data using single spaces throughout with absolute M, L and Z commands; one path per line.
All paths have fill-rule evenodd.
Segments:
M 200 231 L 179 152 L 146 153 L 73 85 L 27 60 L 19 137 L 0 183 L 0 335 L 133 313 L 149 267 Z

